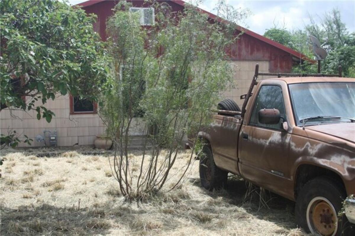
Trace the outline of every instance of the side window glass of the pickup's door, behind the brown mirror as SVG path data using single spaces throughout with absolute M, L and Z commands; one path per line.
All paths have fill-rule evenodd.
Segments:
M 258 112 L 261 109 L 278 109 L 282 117 L 286 118 L 284 99 L 282 97 L 282 90 L 277 85 L 264 85 L 260 88 L 256 98 L 254 108 L 250 117 L 250 125 L 256 125 L 271 129 L 281 129 L 282 119 L 276 125 L 266 125 L 259 123 Z

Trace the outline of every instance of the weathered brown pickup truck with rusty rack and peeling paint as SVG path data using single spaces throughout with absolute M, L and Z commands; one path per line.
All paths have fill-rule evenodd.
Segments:
M 198 132 L 201 184 L 211 190 L 237 174 L 295 201 L 304 230 L 355 235 L 353 200 L 337 217 L 355 194 L 355 79 L 278 74 L 256 82 L 258 75 L 272 74 L 256 67 L 241 111 L 228 99 Z

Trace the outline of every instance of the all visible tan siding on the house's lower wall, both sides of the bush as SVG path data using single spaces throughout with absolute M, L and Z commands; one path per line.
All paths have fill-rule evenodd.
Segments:
M 254 75 L 255 64 L 259 64 L 260 72 L 268 72 L 268 61 L 231 61 L 234 70 L 235 85 L 223 93 L 223 98 L 231 98 L 241 107 L 243 100 L 240 95 L 247 93 Z M 262 79 L 262 77 L 261 77 Z M 29 100 L 28 100 L 29 102 Z M 41 101 L 36 104 L 42 105 Z M 70 115 L 69 95 L 56 95 L 55 100 L 48 100 L 47 109 L 55 113 L 52 121 L 48 123 L 44 118 L 37 120 L 35 110 L 21 111 L 9 109 L 0 113 L 0 133 L 7 134 L 8 129 L 15 129 L 18 134 L 26 134 L 34 141 L 32 146 L 41 146 L 35 141 L 38 135 L 43 136 L 44 130 L 57 131 L 58 146 L 93 145 L 95 136 L 105 134 L 105 126 L 97 114 Z M 140 118 L 133 120 L 130 135 L 142 135 L 146 133 L 146 127 Z M 28 146 L 21 143 L 20 146 Z

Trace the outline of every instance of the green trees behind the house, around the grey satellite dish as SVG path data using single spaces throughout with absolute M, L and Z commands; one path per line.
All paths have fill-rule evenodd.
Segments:
M 326 13 L 319 24 L 312 16 L 309 18 L 310 23 L 305 25 L 304 29 L 290 32 L 275 26 L 267 29 L 264 36 L 299 51 L 308 58 L 313 58 L 309 40 L 309 35 L 313 35 L 320 40 L 321 44 L 325 43 L 331 47 L 328 56 L 321 62 L 322 73 L 337 74 L 338 67 L 341 65 L 343 76 L 354 77 L 355 33 L 348 33 L 345 24 L 341 21 L 339 10 L 333 9 Z M 302 66 L 295 66 L 293 72 L 317 73 L 317 64 L 305 62 Z

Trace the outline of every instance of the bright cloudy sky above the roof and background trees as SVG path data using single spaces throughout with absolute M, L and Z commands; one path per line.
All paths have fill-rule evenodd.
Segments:
M 84 0 L 69 0 L 70 4 L 77 4 Z M 218 0 L 205 0 L 200 7 L 215 13 L 213 8 Z M 309 15 L 316 21 L 324 17 L 324 13 L 338 8 L 342 21 L 349 32 L 355 31 L 355 0 L 226 0 L 234 8 L 251 11 L 251 15 L 239 22 L 258 34 L 264 34 L 266 29 L 274 25 L 288 30 L 303 29 L 309 23 Z

